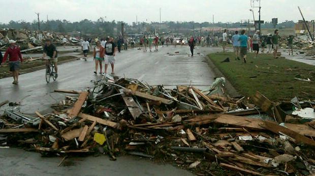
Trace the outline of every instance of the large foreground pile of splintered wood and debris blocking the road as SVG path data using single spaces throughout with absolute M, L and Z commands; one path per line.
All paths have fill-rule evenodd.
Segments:
M 218 79 L 205 91 L 166 89 L 106 76 L 87 91 L 55 90 L 79 96 L 67 95 L 46 115 L 5 110 L 0 146 L 46 155 L 102 153 L 112 160 L 131 154 L 175 162 L 198 175 L 315 172 L 314 118 L 289 123 L 301 119 L 298 111 L 313 110 L 314 102 L 275 103 L 259 92 L 253 98 L 230 98 L 216 93 L 222 83 Z M 294 113 L 286 112 L 293 108 Z M 263 114 L 276 123 L 262 120 Z

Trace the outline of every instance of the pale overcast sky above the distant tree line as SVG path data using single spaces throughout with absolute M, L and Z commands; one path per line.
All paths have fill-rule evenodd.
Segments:
M 66 19 L 96 21 L 105 17 L 107 21 L 195 21 L 236 22 L 253 19 L 249 11 L 250 0 L 0 0 L 0 23 L 11 20 L 31 22 L 37 19 Z M 261 0 L 261 19 L 271 21 L 278 18 L 297 21 L 301 19 L 300 6 L 306 20 L 315 19 L 314 0 Z M 254 9 L 258 20 L 258 9 Z

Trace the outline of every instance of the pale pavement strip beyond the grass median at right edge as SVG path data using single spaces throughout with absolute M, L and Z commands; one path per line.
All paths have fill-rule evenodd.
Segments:
M 315 65 L 314 56 L 306 56 L 305 54 L 299 54 L 300 51 L 302 51 L 302 50 L 293 50 L 294 55 L 289 56 L 289 50 L 288 49 L 280 49 L 281 56 L 286 57 L 286 59 L 306 63 L 309 65 Z M 296 53 L 298 53 L 298 54 L 296 54 Z

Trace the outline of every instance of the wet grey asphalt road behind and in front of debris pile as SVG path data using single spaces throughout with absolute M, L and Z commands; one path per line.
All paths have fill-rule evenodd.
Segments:
M 175 51 L 179 54 L 167 54 L 175 54 Z M 205 88 L 213 82 L 214 75 L 204 57 L 206 53 L 216 51 L 221 49 L 197 47 L 195 56 L 190 57 L 187 46 L 160 47 L 159 52 L 151 53 L 131 49 L 117 53 L 115 73 L 151 85 L 191 84 Z M 57 81 L 49 84 L 45 81 L 44 70 L 21 75 L 18 86 L 12 84 L 12 78 L 1 79 L 0 102 L 7 99 L 21 101 L 20 110 L 24 113 L 48 112 L 50 104 L 65 97 L 62 93 L 52 93 L 54 89 L 84 90 L 92 86 L 90 80 L 101 78 L 93 75 L 91 58 L 64 63 L 58 68 Z M 110 161 L 107 156 L 70 158 L 67 166 L 58 167 L 60 160 L 59 157 L 42 158 L 38 153 L 22 149 L 0 149 L 0 175 L 192 175 L 170 164 L 156 164 L 132 156 L 118 157 L 117 161 Z

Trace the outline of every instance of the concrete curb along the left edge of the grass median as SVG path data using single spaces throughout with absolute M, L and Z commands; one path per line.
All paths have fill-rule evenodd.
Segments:
M 207 63 L 209 65 L 209 67 L 212 69 L 212 72 L 215 74 L 216 77 L 224 77 L 226 78 L 223 73 L 221 71 L 219 71 L 219 69 L 214 65 L 214 63 L 211 61 L 210 57 L 207 55 L 206 56 L 207 59 Z M 239 97 L 242 96 L 234 87 L 233 85 L 230 83 L 230 81 L 226 78 L 226 91 L 227 94 L 230 95 L 231 97 Z

